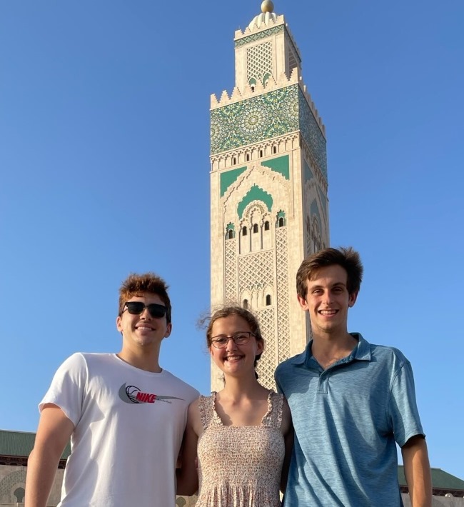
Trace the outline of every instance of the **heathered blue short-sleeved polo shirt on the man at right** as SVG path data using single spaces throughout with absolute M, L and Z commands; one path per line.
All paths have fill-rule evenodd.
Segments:
M 423 435 L 413 371 L 396 348 L 358 345 L 324 370 L 306 350 L 276 369 L 295 428 L 285 507 L 402 506 L 395 442 Z

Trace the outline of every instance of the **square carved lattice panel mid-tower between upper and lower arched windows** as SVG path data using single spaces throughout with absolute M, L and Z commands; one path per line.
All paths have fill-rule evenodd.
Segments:
M 240 291 L 253 291 L 273 285 L 273 252 L 263 251 L 238 257 Z

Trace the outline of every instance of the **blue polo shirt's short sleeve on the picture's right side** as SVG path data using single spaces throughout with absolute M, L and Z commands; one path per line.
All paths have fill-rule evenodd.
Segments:
M 393 378 L 389 409 L 398 446 L 404 446 L 415 435 L 425 436 L 415 401 L 413 368 L 407 360 Z

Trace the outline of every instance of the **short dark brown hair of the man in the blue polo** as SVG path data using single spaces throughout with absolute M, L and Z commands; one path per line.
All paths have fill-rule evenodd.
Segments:
M 308 287 L 306 281 L 312 280 L 316 276 L 316 272 L 321 268 L 338 264 L 345 269 L 348 274 L 346 288 L 348 293 L 358 293 L 363 280 L 363 263 L 357 251 L 351 246 L 338 249 L 323 249 L 307 257 L 298 268 L 296 273 L 296 291 L 298 296 L 306 298 Z

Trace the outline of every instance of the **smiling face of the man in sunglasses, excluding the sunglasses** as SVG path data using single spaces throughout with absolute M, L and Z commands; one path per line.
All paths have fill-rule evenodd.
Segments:
M 141 301 L 148 305 L 157 303 L 164 305 L 158 294 L 144 293 L 133 296 L 128 301 Z M 166 323 L 166 316 L 153 318 L 144 308 L 140 315 L 132 315 L 127 308 L 116 318 L 116 328 L 123 334 L 123 348 L 136 351 L 140 348 L 159 348 L 163 338 L 171 334 L 171 323 Z

